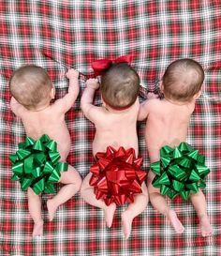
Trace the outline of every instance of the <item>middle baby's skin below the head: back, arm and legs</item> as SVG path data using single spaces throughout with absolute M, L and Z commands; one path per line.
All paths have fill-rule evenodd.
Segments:
M 99 83 L 96 79 L 89 79 L 86 82 L 86 88 L 81 97 L 81 110 L 96 127 L 96 135 L 93 141 L 93 155 L 97 152 L 106 152 L 107 146 L 111 145 L 115 149 L 120 146 L 134 148 L 138 156 L 138 136 L 137 136 L 137 116 L 139 112 L 139 100 L 124 111 L 116 111 L 103 103 L 102 107 L 93 105 L 93 99 Z M 94 187 L 89 185 L 92 173 L 88 173 L 81 186 L 81 196 L 87 202 L 98 208 L 103 209 L 105 220 L 108 227 L 111 227 L 112 219 L 116 209 L 116 204 L 111 203 L 107 206 L 103 200 L 96 200 Z M 147 206 L 148 194 L 144 182 L 142 183 L 142 193 L 135 196 L 134 203 L 129 203 L 128 207 L 122 213 L 122 225 L 125 238 L 128 238 L 131 232 L 133 219 L 138 216 Z

